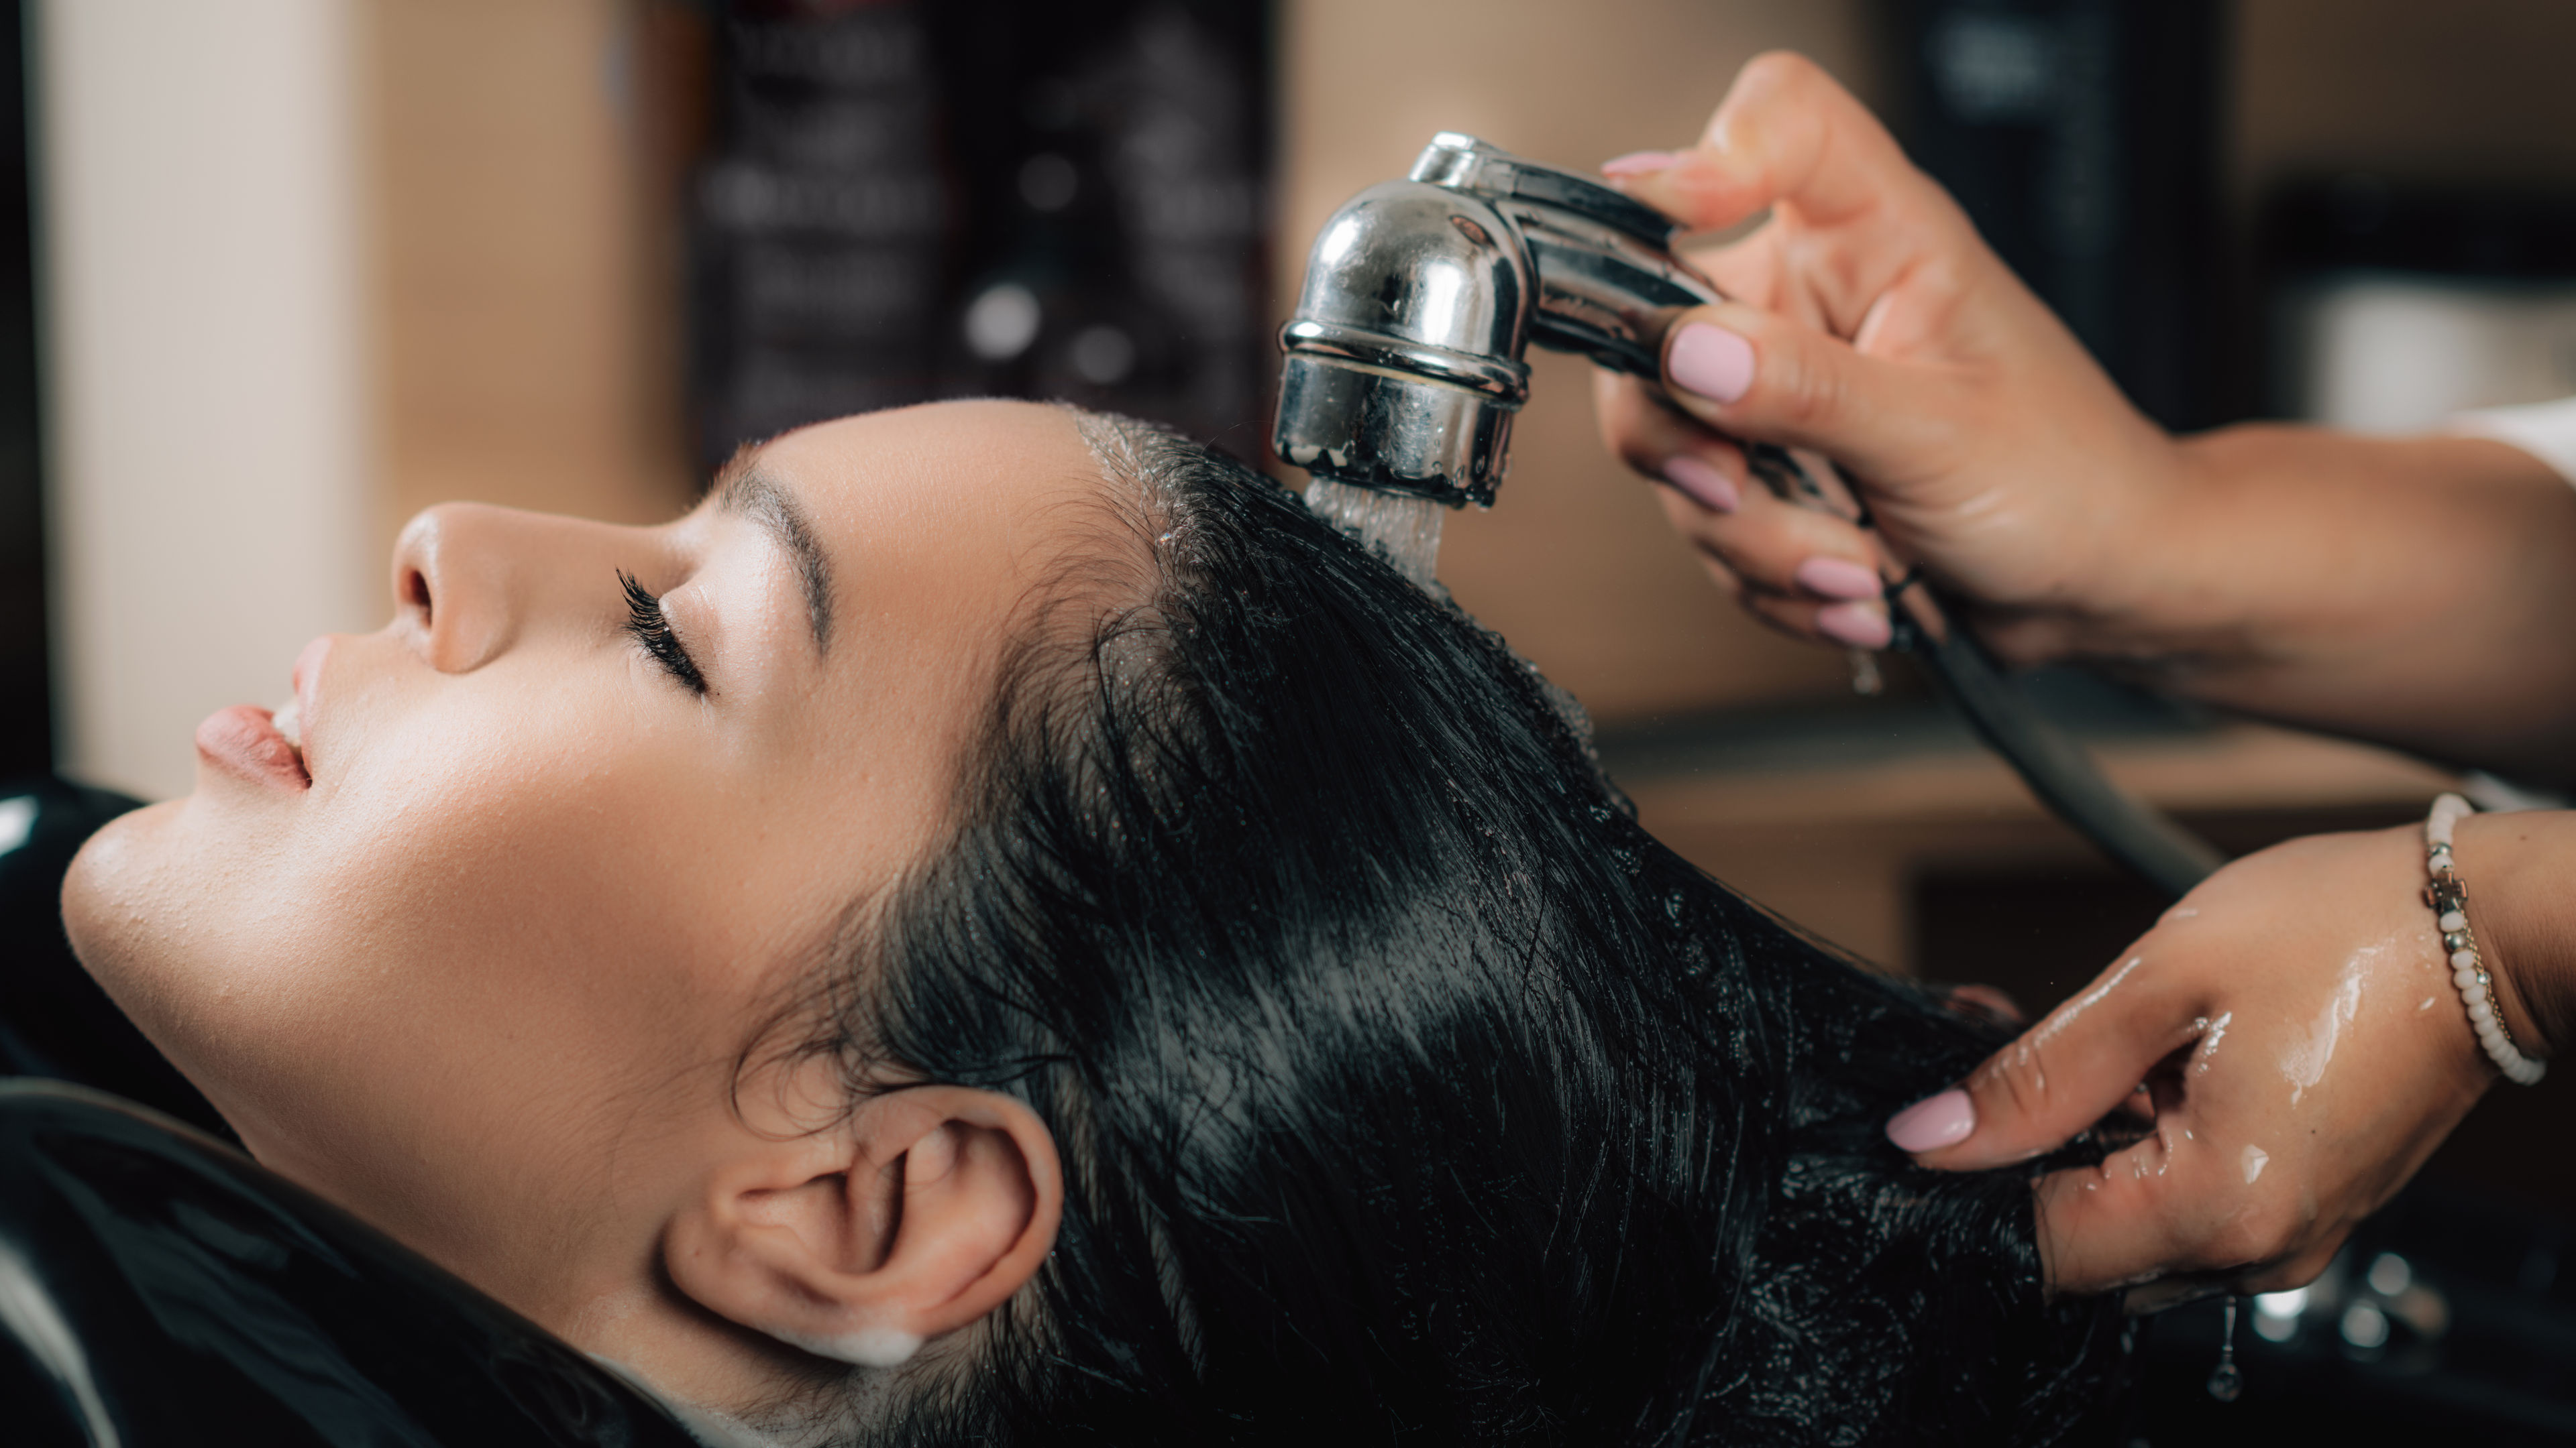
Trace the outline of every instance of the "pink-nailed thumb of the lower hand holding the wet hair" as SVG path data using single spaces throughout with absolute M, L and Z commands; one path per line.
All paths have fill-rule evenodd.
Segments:
M 1986 1059 L 1968 1080 L 1899 1110 L 1888 1139 L 1927 1167 L 1976 1172 L 2063 1147 L 2138 1090 L 2174 1049 L 2197 1036 L 2177 1018 L 2143 956 L 2102 971 L 2092 987 Z

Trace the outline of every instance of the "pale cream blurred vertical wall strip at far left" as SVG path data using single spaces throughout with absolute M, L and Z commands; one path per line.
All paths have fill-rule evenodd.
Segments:
M 348 0 L 33 8 L 62 768 L 185 794 L 191 737 L 368 629 Z

